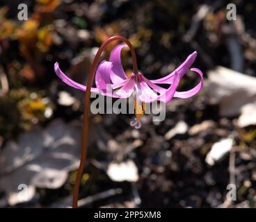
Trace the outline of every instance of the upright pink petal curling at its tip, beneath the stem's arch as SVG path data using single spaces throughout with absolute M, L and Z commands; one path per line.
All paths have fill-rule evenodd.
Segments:
M 121 62 L 121 51 L 122 48 L 125 46 L 125 44 L 118 44 L 117 46 L 115 46 L 115 48 L 111 51 L 111 55 L 109 57 L 109 62 L 112 62 L 113 64 L 110 78 L 114 84 L 122 83 L 123 80 L 127 79 Z

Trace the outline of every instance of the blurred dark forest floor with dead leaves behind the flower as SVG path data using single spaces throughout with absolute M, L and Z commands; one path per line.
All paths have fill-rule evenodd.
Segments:
M 28 20 L 17 17 L 20 3 Z M 233 0 L 231 20 L 228 3 L 1 0 L 0 207 L 70 206 L 84 94 L 56 77 L 54 62 L 86 84 L 112 35 L 131 41 L 150 79 L 198 51 L 205 85 L 170 101 L 162 122 L 144 115 L 139 130 L 132 114 L 90 114 L 79 206 L 255 207 L 256 1 Z M 122 62 L 129 73 L 129 51 Z M 188 73 L 179 90 L 197 83 Z

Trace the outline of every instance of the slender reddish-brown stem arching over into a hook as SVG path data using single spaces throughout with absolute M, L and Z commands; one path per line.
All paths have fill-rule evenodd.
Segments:
M 83 169 L 86 163 L 87 146 L 88 146 L 88 117 L 89 117 L 89 107 L 90 107 L 90 88 L 93 85 L 93 78 L 94 78 L 95 71 L 97 69 L 97 65 L 99 63 L 99 58 L 102 54 L 102 51 L 104 51 L 107 44 L 115 40 L 122 40 L 127 44 L 127 46 L 129 46 L 129 49 L 131 50 L 131 56 L 133 59 L 134 74 L 138 74 L 136 53 L 134 51 L 134 47 L 131 45 L 131 42 L 129 42 L 129 40 L 127 40 L 125 37 L 117 35 L 117 36 L 110 37 L 108 40 L 102 43 L 93 60 L 93 65 L 92 65 L 92 68 L 90 69 L 89 78 L 86 84 L 86 95 L 84 96 L 84 107 L 83 107 L 83 131 L 82 131 L 81 157 L 80 157 L 79 169 L 77 172 L 77 178 L 76 178 L 76 182 L 74 184 L 74 190 L 73 190 L 73 204 L 72 204 L 73 208 L 78 207 L 77 202 L 78 202 L 78 196 L 79 196 L 79 187 L 81 184 Z

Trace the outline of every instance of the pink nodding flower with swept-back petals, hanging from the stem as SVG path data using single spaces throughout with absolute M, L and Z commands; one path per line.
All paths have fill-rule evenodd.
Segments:
M 198 55 L 196 51 L 191 53 L 182 65 L 179 65 L 172 73 L 163 78 L 149 80 L 140 72 L 138 72 L 138 74 L 132 73 L 129 77 L 126 76 L 121 62 L 121 51 L 124 46 L 126 45 L 119 44 L 115 46 L 111 52 L 109 61 L 104 60 L 100 62 L 95 74 L 96 87 L 92 87 L 91 92 L 99 93 L 104 96 L 112 96 L 114 98 L 128 98 L 134 92 L 136 98 L 143 103 L 152 103 L 156 100 L 168 103 L 173 97 L 186 99 L 194 96 L 202 89 L 202 71 L 197 68 L 190 69 Z M 54 68 L 57 76 L 61 78 L 64 83 L 86 91 L 85 85 L 74 82 L 61 71 L 58 62 L 55 63 Z M 177 92 L 179 81 L 189 69 L 199 74 L 200 83 L 188 91 Z M 168 87 L 163 88 L 159 84 L 168 85 Z M 138 121 L 140 118 L 141 117 L 137 117 Z

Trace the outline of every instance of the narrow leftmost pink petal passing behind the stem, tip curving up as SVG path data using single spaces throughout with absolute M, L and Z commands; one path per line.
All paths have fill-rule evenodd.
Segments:
M 68 78 L 63 71 L 61 71 L 60 67 L 58 66 L 58 62 L 55 62 L 54 64 L 54 70 L 56 75 L 58 76 L 58 78 L 61 78 L 61 80 L 66 83 L 67 85 L 70 85 L 71 87 L 74 87 L 76 89 L 80 89 L 82 91 L 86 91 L 86 86 L 85 85 L 81 85 L 79 83 L 74 82 L 71 78 Z M 91 87 L 90 92 L 95 92 L 98 93 L 99 89 L 95 88 L 95 87 Z

